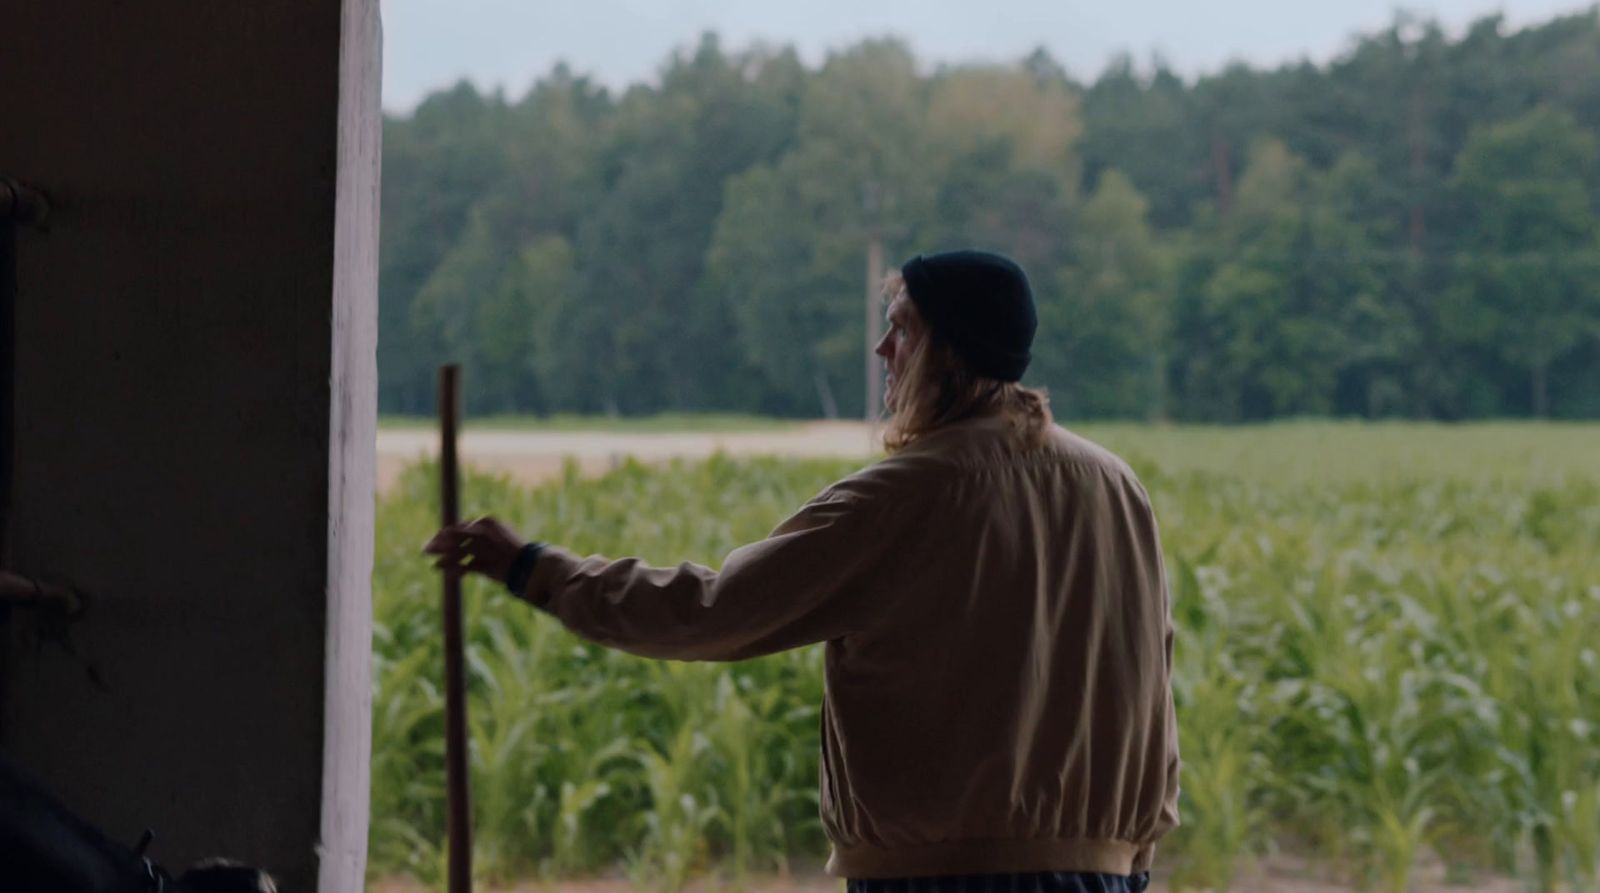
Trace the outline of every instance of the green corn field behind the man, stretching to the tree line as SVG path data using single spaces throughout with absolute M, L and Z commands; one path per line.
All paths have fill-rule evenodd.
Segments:
M 1403 891 L 1421 859 L 1600 888 L 1600 429 L 1099 427 L 1162 520 L 1182 827 L 1157 858 L 1226 890 L 1291 851 Z M 856 467 L 730 459 L 464 504 L 581 554 L 718 562 Z M 378 507 L 370 866 L 443 875 L 437 469 Z M 821 647 L 738 664 L 606 651 L 467 587 L 475 867 L 640 887 L 814 869 Z

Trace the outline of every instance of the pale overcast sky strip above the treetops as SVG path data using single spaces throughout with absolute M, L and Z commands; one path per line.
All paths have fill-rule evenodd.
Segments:
M 410 110 L 466 77 L 512 98 L 557 61 L 611 86 L 654 80 L 675 48 L 715 30 L 723 46 L 792 43 L 816 66 L 829 50 L 898 35 L 923 64 L 1013 61 L 1045 46 L 1078 78 L 1130 51 L 1184 75 L 1232 59 L 1326 61 L 1397 6 L 1451 34 L 1502 11 L 1512 26 L 1592 0 L 382 0 L 384 107 Z

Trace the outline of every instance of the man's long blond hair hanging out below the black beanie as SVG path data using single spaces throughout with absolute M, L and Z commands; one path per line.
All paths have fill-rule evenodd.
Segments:
M 883 299 L 906 290 L 899 272 L 883 280 Z M 915 312 L 915 304 L 910 306 Z M 998 414 L 1018 448 L 1043 445 L 1054 416 L 1050 395 L 1037 387 L 976 374 L 920 314 L 910 355 L 888 394 L 883 448 L 898 453 L 933 430 L 973 416 Z

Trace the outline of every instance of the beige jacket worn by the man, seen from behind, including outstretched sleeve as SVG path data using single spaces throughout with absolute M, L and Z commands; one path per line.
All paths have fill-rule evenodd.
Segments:
M 1178 824 L 1173 627 L 1150 501 L 1061 427 L 938 430 L 722 571 L 550 547 L 526 599 L 682 661 L 827 642 L 822 824 L 840 877 L 1134 874 Z

